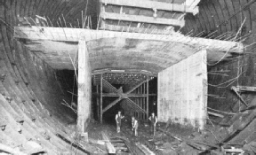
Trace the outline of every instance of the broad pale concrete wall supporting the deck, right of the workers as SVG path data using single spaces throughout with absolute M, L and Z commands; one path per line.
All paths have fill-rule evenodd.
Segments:
M 193 128 L 204 128 L 207 113 L 206 50 L 181 60 L 158 74 L 157 115 Z

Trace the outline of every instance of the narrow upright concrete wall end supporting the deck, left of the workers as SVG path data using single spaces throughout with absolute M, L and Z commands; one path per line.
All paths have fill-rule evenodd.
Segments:
M 92 69 L 85 41 L 78 43 L 78 106 L 77 129 L 84 133 L 91 116 Z

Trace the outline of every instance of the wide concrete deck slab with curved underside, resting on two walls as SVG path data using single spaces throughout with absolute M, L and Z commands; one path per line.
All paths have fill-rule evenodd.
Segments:
M 198 50 L 209 50 L 208 60 L 218 61 L 243 52 L 243 44 L 179 33 L 154 35 L 58 27 L 15 27 L 19 38 L 54 69 L 74 69 L 77 44 L 87 41 L 92 70 L 138 69 L 158 73 L 188 58 Z

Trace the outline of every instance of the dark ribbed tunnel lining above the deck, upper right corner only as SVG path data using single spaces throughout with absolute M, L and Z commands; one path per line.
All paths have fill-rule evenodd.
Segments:
M 238 35 L 248 35 L 252 32 L 250 39 L 253 41 L 256 24 L 253 11 L 256 4 L 251 0 L 204 0 L 198 6 L 199 13 L 196 16 L 188 14 L 185 18 L 186 25 L 182 28 L 184 34 L 192 31 L 195 36 L 204 32 L 206 36 L 216 31 L 212 36 L 217 37 L 227 32 L 236 35 L 243 26 Z M 250 39 L 246 43 L 250 42 Z

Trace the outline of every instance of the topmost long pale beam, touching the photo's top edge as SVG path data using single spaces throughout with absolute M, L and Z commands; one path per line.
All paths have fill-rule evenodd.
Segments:
M 138 8 L 145 8 L 145 9 L 156 9 L 161 11 L 169 11 L 169 12 L 190 12 L 194 15 L 199 12 L 198 7 L 194 8 L 189 7 L 188 5 L 183 4 L 170 4 L 170 3 L 163 3 L 163 2 L 156 2 L 156 1 L 149 1 L 149 0 L 101 0 L 102 4 L 115 4 L 121 6 L 132 6 Z

